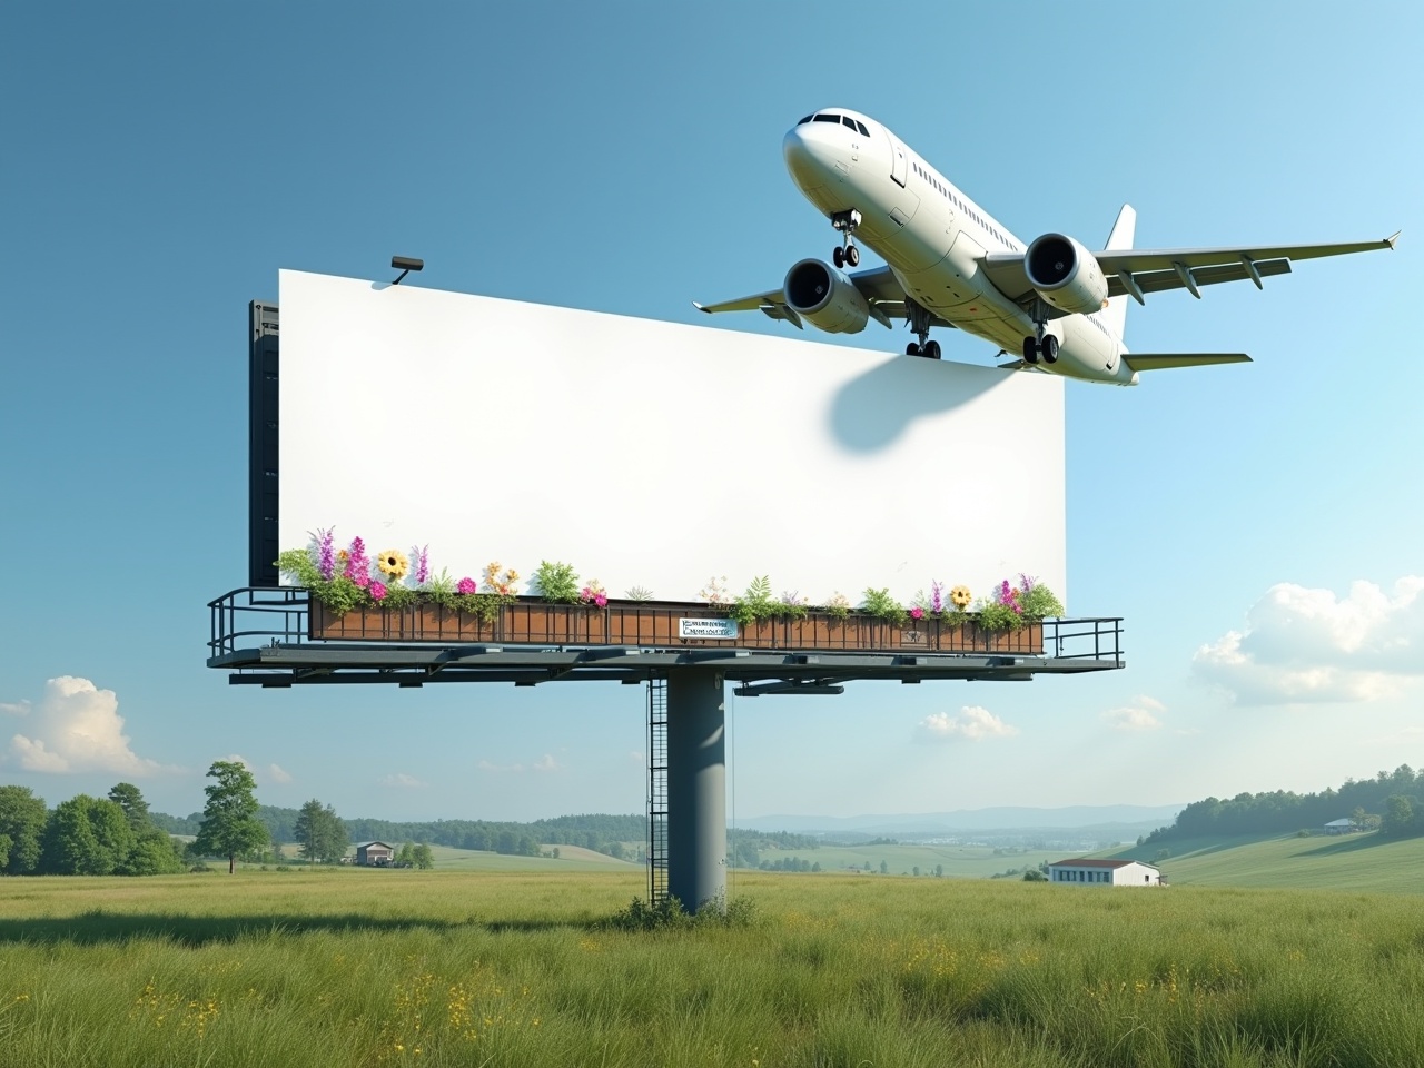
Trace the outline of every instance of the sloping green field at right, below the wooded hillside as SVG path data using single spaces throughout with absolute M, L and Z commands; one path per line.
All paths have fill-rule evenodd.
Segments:
M 1153 862 L 1168 847 L 1172 856 Z M 1424 893 L 1424 839 L 1243 837 L 1163 842 L 1101 856 L 1159 863 L 1172 886 L 1274 886 Z M 1421 1057 L 1424 1064 L 1424 1057 Z

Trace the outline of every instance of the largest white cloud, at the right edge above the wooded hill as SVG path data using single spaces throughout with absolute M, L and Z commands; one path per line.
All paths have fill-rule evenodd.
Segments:
M 1373 701 L 1424 676 L 1424 578 L 1405 575 L 1386 594 L 1354 582 L 1330 590 L 1279 582 L 1192 658 L 1198 678 L 1240 705 Z

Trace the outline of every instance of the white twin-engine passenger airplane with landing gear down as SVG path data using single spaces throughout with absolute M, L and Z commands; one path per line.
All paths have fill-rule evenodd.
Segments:
M 1233 245 L 1134 249 L 1136 212 L 1124 205 L 1099 251 L 1065 234 L 1027 246 L 884 125 L 849 108 L 806 115 L 782 141 L 786 169 L 830 218 L 842 244 L 832 262 L 802 259 L 780 289 L 701 305 L 701 312 L 760 310 L 797 329 L 860 333 L 870 319 L 904 319 L 914 333 L 907 356 L 940 359 L 936 326 L 958 328 L 1017 353 L 1012 370 L 1040 370 L 1135 386 L 1138 373 L 1166 367 L 1246 363 L 1246 353 L 1135 353 L 1122 342 L 1128 298 L 1262 279 L 1290 272 L 1296 259 L 1394 248 L 1384 241 L 1343 245 Z M 860 263 L 856 238 L 886 266 L 847 275 Z

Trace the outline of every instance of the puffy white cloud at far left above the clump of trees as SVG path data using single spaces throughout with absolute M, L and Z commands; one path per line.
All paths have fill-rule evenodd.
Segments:
M 60 675 L 44 684 L 28 735 L 14 735 L 10 752 L 30 772 L 115 772 L 141 778 L 167 769 L 138 756 L 124 733 L 118 695 L 88 679 Z M 9 709 L 7 709 L 9 711 Z

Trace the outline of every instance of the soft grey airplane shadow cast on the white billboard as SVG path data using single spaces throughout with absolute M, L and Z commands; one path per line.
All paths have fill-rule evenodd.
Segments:
M 1010 373 L 899 356 L 840 389 L 830 426 L 843 447 L 873 453 L 893 444 L 916 419 L 951 412 L 1004 384 Z

